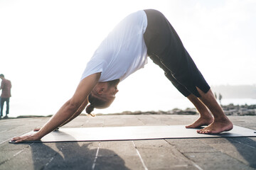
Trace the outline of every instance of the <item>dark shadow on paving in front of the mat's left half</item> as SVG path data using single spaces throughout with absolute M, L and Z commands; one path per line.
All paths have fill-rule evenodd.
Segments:
M 96 149 L 90 142 L 34 143 L 31 145 L 34 169 L 93 169 Z M 94 169 L 124 169 L 124 160 L 110 149 L 100 149 Z

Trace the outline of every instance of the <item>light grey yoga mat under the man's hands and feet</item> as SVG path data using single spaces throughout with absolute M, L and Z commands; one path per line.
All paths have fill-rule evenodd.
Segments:
M 198 134 L 196 129 L 185 125 L 126 126 L 102 128 L 60 128 L 50 132 L 39 142 L 104 141 L 104 140 L 151 140 L 166 138 L 201 137 L 254 137 L 256 130 L 234 126 L 233 130 L 218 135 Z M 28 132 L 27 134 L 34 133 Z

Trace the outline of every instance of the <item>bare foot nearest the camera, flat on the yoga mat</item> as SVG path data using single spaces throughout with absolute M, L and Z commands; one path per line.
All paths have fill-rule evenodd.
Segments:
M 232 129 L 233 124 L 230 120 L 228 120 L 228 118 L 223 118 L 223 120 L 214 120 L 213 123 L 208 125 L 206 128 L 197 130 L 197 132 L 202 134 L 218 134 Z

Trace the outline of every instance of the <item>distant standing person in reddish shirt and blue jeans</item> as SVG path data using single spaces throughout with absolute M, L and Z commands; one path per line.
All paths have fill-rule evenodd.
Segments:
M 3 116 L 3 110 L 4 110 L 4 102 L 6 102 L 6 116 L 4 118 L 8 118 L 9 114 L 9 101 L 11 97 L 11 81 L 4 78 L 4 74 L 0 74 L 1 81 L 1 87 L 2 90 L 1 93 L 1 117 Z

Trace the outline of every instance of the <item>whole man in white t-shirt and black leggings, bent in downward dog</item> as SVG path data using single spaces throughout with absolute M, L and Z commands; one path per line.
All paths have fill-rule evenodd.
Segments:
M 107 108 L 118 92 L 119 81 L 144 67 L 147 57 L 164 70 L 176 89 L 198 109 L 200 117 L 186 128 L 207 125 L 197 131 L 206 134 L 233 128 L 169 21 L 159 11 L 147 9 L 130 14 L 107 35 L 87 63 L 73 97 L 48 123 L 36 134 L 12 140 L 40 140 L 73 120 L 88 103 L 86 112 L 90 114 L 93 108 Z

